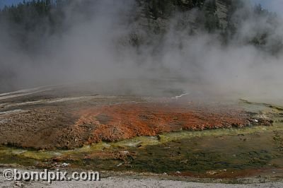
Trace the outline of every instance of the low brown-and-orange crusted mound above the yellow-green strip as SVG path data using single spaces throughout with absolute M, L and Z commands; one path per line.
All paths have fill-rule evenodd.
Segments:
M 250 114 L 233 108 L 152 102 L 73 107 L 68 112 L 59 107 L 38 107 L 1 114 L 0 118 L 0 144 L 37 149 L 74 148 L 170 131 L 245 127 L 253 122 Z

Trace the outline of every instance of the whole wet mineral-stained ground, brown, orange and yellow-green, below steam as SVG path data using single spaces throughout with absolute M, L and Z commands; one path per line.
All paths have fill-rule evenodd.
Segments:
M 50 93 L 1 96 L 1 164 L 282 180 L 276 104 Z

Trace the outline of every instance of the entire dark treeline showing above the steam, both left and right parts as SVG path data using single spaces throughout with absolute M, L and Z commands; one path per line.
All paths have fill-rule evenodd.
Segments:
M 241 0 L 221 1 L 228 10 L 224 27 L 216 14 L 216 0 L 136 0 L 139 6 L 144 6 L 146 15 L 153 20 L 158 18 L 170 18 L 175 12 L 190 11 L 192 8 L 198 10 L 195 25 L 197 28 L 204 28 L 209 33 L 221 33 L 224 42 L 228 42 L 235 37 L 238 32 L 238 25 L 251 16 L 265 16 L 270 20 L 270 25 L 276 27 L 276 16 L 270 13 L 260 5 L 256 6 L 252 13 L 246 12 L 246 15 L 238 16 L 235 19 L 233 14 L 238 8 L 243 7 Z M 35 51 L 42 42 L 45 42 L 50 35 L 62 35 L 68 30 L 72 19 L 65 18 L 65 8 L 71 7 L 74 15 L 80 14 L 84 19 L 91 17 L 92 10 L 88 9 L 94 1 L 66 1 L 66 0 L 33 0 L 23 1 L 16 6 L 5 6 L 0 11 L 0 27 L 6 27 L 9 35 L 18 42 L 18 47 L 27 51 Z M 71 6 L 70 6 L 71 5 Z M 72 15 L 72 14 L 69 14 Z M 68 20 L 68 21 L 66 21 Z M 272 47 L 265 47 L 272 29 L 256 33 L 253 37 L 247 39 L 247 43 L 253 44 L 259 48 L 277 53 L 282 49 L 282 40 L 275 40 Z M 139 42 L 136 42 L 137 44 Z

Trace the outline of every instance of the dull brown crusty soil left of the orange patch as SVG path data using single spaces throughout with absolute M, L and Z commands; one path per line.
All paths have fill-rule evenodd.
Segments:
M 74 117 L 54 107 L 45 107 L 27 112 L 2 115 L 0 124 L 0 143 L 24 148 L 64 148 L 80 136 L 74 131 Z

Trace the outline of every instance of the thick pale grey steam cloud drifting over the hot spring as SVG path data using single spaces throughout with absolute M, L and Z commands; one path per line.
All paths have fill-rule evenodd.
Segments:
M 283 95 L 282 52 L 272 53 L 282 45 L 282 18 L 254 15 L 249 1 L 233 13 L 236 34 L 225 42 L 218 31 L 193 27 L 189 20 L 197 16 L 197 9 L 175 12 L 159 35 L 142 26 L 136 1 L 93 1 L 81 10 L 77 3 L 64 7 L 62 32 L 45 28 L 45 35 L 34 30 L 26 36 L 37 40 L 33 50 L 19 46 L 10 32 L 17 28 L 2 21 L 0 91 L 94 81 L 139 94 L 156 87 L 151 80 L 157 80 L 188 93 L 277 99 Z M 247 42 L 265 32 L 269 35 L 264 48 Z M 125 80 L 131 80 L 129 85 Z

